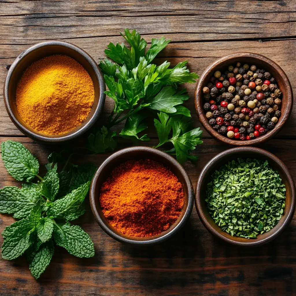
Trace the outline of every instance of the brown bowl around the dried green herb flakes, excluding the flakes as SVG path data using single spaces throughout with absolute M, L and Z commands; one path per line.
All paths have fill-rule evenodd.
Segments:
M 232 237 L 230 234 L 223 231 L 217 224 L 215 224 L 213 218 L 210 216 L 205 202 L 207 183 L 215 170 L 218 170 L 229 160 L 246 156 L 264 161 L 268 160 L 270 166 L 279 172 L 281 179 L 286 186 L 286 205 L 284 214 L 279 220 L 279 223 L 270 231 L 258 235 L 256 239 L 247 239 L 236 236 Z M 248 247 L 258 246 L 275 239 L 291 222 L 295 211 L 295 185 L 286 165 L 273 154 L 255 147 L 232 148 L 216 155 L 203 168 L 195 189 L 195 207 L 200 216 L 200 220 L 211 234 L 231 244 Z

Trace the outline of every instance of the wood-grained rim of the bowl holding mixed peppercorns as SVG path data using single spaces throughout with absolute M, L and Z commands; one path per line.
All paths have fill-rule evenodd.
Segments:
M 232 140 L 227 138 L 226 136 L 220 135 L 217 131 L 215 131 L 212 126 L 209 124 L 207 118 L 205 117 L 205 112 L 203 110 L 203 99 L 202 99 L 202 87 L 204 86 L 204 83 L 207 81 L 208 76 L 210 72 L 218 67 L 222 62 L 226 62 L 229 59 L 242 59 L 242 58 L 247 58 L 247 57 L 252 57 L 254 59 L 258 59 L 260 61 L 266 62 L 270 65 L 271 68 L 274 69 L 275 72 L 278 72 L 279 75 L 283 78 L 284 81 L 284 86 L 285 86 L 285 91 L 287 94 L 285 96 L 287 97 L 287 112 L 285 114 L 281 114 L 280 117 L 280 122 L 276 124 L 274 129 L 272 131 L 269 131 L 263 136 L 260 136 L 258 138 L 252 139 L 252 140 L 247 140 L 247 141 L 238 141 L 238 140 Z M 211 65 L 209 65 L 205 71 L 202 73 L 197 86 L 195 88 L 195 93 L 194 93 L 194 104 L 195 104 L 195 109 L 198 115 L 198 118 L 202 124 L 202 126 L 207 130 L 210 135 L 212 135 L 214 138 L 218 139 L 219 141 L 222 141 L 226 144 L 230 144 L 233 146 L 255 146 L 258 144 L 262 144 L 265 141 L 268 141 L 271 139 L 273 136 L 275 136 L 283 127 L 283 125 L 287 122 L 289 119 L 291 112 L 292 112 L 292 107 L 293 107 L 293 92 L 292 92 L 292 86 L 289 81 L 289 78 L 287 77 L 286 73 L 282 68 L 276 64 L 273 60 L 269 59 L 268 57 L 265 57 L 261 54 L 255 54 L 251 52 L 237 52 L 233 54 L 229 54 L 227 56 L 221 57 L 217 60 L 215 60 Z

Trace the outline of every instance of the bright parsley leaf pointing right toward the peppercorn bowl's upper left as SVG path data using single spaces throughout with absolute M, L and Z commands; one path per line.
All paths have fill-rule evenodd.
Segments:
M 194 83 L 195 79 L 199 76 L 195 73 L 190 73 L 189 69 L 186 68 L 187 61 L 178 63 L 173 69 L 167 69 L 163 74 L 160 81 L 164 84 L 177 84 L 177 83 Z

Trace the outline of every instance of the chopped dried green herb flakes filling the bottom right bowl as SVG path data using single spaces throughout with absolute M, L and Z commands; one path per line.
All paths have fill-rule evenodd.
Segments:
M 232 160 L 211 176 L 206 199 L 210 215 L 222 230 L 256 238 L 274 228 L 285 208 L 286 187 L 267 160 Z

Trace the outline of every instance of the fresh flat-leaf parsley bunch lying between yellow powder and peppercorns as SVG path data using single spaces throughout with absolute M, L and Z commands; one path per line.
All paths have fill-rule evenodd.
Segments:
M 123 43 L 110 43 L 105 54 L 115 63 L 107 58 L 99 63 L 109 89 L 105 93 L 115 101 L 115 105 L 107 126 L 89 135 L 89 150 L 99 153 L 115 149 L 116 142 L 113 137 L 116 132 L 110 128 L 123 120 L 126 120 L 126 123 L 120 136 L 148 141 L 147 134 L 139 135 L 147 128 L 144 119 L 149 115 L 145 110 L 152 112 L 155 118 L 155 128 L 160 140 L 156 147 L 171 143 L 173 148 L 166 152 L 175 155 L 179 162 L 197 160 L 190 152 L 197 144 L 202 143 L 202 131 L 200 128 L 191 127 L 190 111 L 182 105 L 189 96 L 186 89 L 180 90 L 178 85 L 193 83 L 199 76 L 189 72 L 186 68 L 187 61 L 174 68 L 169 68 L 170 63 L 167 61 L 159 66 L 152 64 L 153 59 L 170 40 L 165 40 L 164 37 L 159 40 L 152 38 L 151 46 L 145 54 L 147 42 L 136 30 L 130 33 L 125 29 L 125 35 L 120 34 L 131 48 L 127 48 Z M 171 131 L 173 133 L 170 137 Z

